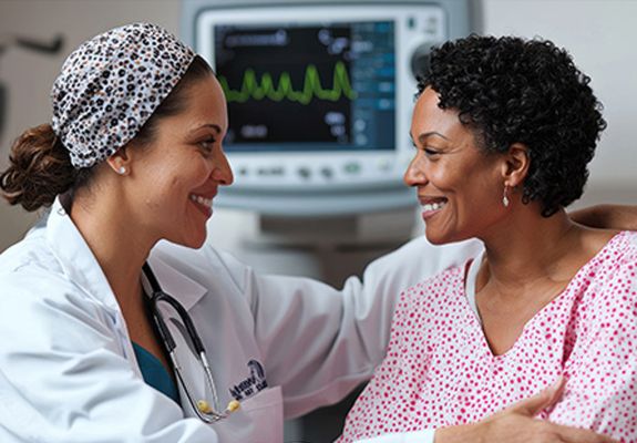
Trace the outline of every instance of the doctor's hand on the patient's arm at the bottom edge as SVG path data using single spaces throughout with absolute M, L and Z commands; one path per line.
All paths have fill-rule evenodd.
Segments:
M 535 419 L 542 410 L 559 401 L 564 384 L 564 379 L 559 379 L 553 387 L 481 422 L 442 427 L 435 431 L 434 443 L 617 443 L 589 430 Z

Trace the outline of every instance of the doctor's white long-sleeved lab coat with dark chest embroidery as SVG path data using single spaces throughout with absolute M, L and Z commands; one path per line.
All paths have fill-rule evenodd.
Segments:
M 183 392 L 184 410 L 144 383 L 109 282 L 56 200 L 44 226 L 0 256 L 0 441 L 282 442 L 284 416 L 333 403 L 371 377 L 401 289 L 480 248 L 418 239 L 370 265 L 364 285 L 350 278 L 337 290 L 260 276 L 207 246 L 158 244 L 151 266 L 192 316 L 222 403 L 230 392 L 245 398 L 206 425 Z M 260 391 L 254 361 L 265 369 Z M 198 368 L 194 358 L 182 364 Z

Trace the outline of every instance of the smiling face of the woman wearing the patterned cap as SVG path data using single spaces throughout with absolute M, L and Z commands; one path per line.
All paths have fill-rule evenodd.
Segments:
M 222 148 L 228 121 L 212 74 L 191 85 L 186 96 L 183 112 L 160 121 L 150 146 L 130 151 L 129 194 L 145 234 L 201 247 L 218 186 L 233 182 Z

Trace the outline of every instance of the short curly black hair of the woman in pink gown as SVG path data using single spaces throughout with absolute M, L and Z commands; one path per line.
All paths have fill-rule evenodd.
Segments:
M 432 51 L 418 95 L 431 86 L 439 106 L 456 110 L 485 153 L 526 145 L 522 202 L 541 202 L 549 217 L 582 196 L 606 127 L 589 82 L 551 41 L 470 35 Z

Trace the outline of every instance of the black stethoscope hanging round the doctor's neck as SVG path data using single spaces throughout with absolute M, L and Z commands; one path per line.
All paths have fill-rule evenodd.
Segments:
M 151 289 L 153 290 L 152 296 L 148 298 L 148 308 L 151 315 L 153 317 L 153 320 L 155 321 L 155 324 L 157 326 L 157 331 L 164 342 L 164 347 L 168 352 L 168 356 L 173 363 L 173 368 L 175 369 L 175 375 L 177 377 L 179 384 L 182 384 L 182 387 L 184 388 L 184 392 L 188 398 L 191 406 L 193 408 L 197 416 L 206 423 L 214 423 L 222 419 L 227 418 L 232 412 L 235 412 L 236 410 L 239 409 L 239 402 L 237 400 L 232 400 L 226 406 L 226 409 L 222 412 L 222 409 L 219 406 L 220 404 L 219 399 L 217 395 L 217 388 L 215 384 L 215 380 L 213 378 L 213 371 L 210 370 L 208 359 L 206 358 L 206 350 L 204 348 L 202 339 L 199 338 L 199 334 L 197 333 L 197 330 L 195 329 L 191 316 L 188 316 L 188 312 L 186 312 L 182 303 L 179 303 L 174 297 L 169 296 L 168 293 L 162 290 L 160 281 L 153 274 L 153 270 L 151 269 L 147 262 L 144 264 L 143 271 L 144 275 L 146 276 L 146 279 L 148 280 L 148 284 L 151 285 Z M 160 302 L 168 303 L 177 312 L 179 319 L 182 320 L 184 327 L 186 328 L 188 338 L 193 343 L 193 348 L 196 354 L 198 356 L 199 362 L 202 363 L 202 368 L 204 369 L 206 383 L 213 395 L 213 404 L 210 404 L 205 399 L 196 399 L 192 394 L 194 390 L 192 390 L 189 384 L 186 382 L 183 368 L 177 360 L 175 352 L 177 346 L 158 308 Z

